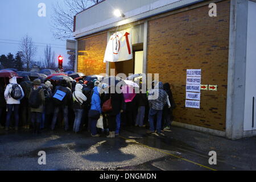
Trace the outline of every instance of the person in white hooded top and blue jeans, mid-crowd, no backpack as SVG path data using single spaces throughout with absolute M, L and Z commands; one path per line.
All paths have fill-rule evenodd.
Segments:
M 75 121 L 73 125 L 73 131 L 75 133 L 79 132 L 83 106 L 82 104 L 87 100 L 86 96 L 82 93 L 82 85 L 76 84 L 75 91 L 73 92 L 73 109 L 75 113 Z

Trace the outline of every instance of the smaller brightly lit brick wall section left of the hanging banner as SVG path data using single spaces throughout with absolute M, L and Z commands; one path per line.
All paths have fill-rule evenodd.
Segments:
M 106 44 L 106 33 L 79 40 L 77 71 L 85 75 L 106 73 L 106 63 L 103 63 Z

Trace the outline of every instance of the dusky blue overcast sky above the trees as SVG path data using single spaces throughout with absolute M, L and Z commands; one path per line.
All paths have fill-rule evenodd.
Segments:
M 46 44 L 52 44 L 52 50 L 56 54 L 56 63 L 57 56 L 62 55 L 64 64 L 67 64 L 65 41 L 53 38 L 50 29 L 52 5 L 56 2 L 63 3 L 63 0 L 1 0 L 0 55 L 7 55 L 9 52 L 15 55 L 19 51 L 18 43 L 20 42 L 17 41 L 27 34 L 37 45 L 36 59 L 38 61 L 44 58 Z M 46 17 L 38 16 L 39 3 L 46 4 Z

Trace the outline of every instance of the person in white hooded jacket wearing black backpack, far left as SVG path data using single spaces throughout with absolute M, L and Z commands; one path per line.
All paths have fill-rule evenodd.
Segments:
M 17 84 L 16 77 L 10 78 L 9 82 L 10 84 L 6 86 L 5 93 L 4 93 L 6 104 L 7 104 L 7 116 L 6 116 L 6 125 L 5 125 L 6 131 L 9 130 L 11 114 L 13 113 L 13 111 L 15 116 L 15 130 L 18 130 L 19 105 L 20 105 L 20 100 L 22 100 L 22 98 L 24 97 L 23 89 L 19 84 Z

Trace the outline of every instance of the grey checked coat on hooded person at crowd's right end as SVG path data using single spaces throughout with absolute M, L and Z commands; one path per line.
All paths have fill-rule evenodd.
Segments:
M 168 95 L 166 91 L 163 90 L 163 83 L 158 82 L 155 88 L 150 90 L 148 94 L 148 102 L 152 109 L 163 110 L 164 105 L 167 104 Z

